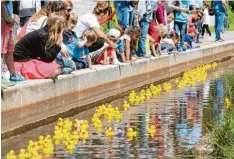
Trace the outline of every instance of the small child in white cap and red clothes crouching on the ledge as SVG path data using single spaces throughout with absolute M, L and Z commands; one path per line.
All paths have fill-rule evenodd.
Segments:
M 120 41 L 120 31 L 118 29 L 110 29 L 107 37 L 110 41 L 117 44 Z M 117 46 L 118 47 L 118 46 Z M 107 47 L 104 52 L 93 57 L 94 63 L 96 64 L 113 64 L 120 65 L 116 56 L 116 50 L 112 47 Z

